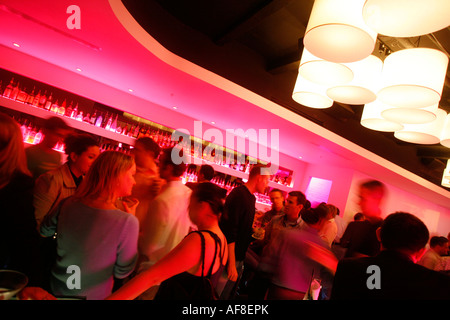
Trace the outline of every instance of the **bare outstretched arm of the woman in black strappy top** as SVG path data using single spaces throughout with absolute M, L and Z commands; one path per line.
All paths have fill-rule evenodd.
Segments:
M 106 300 L 133 300 L 150 287 L 199 265 L 200 236 L 191 234 L 149 269 L 139 273 Z

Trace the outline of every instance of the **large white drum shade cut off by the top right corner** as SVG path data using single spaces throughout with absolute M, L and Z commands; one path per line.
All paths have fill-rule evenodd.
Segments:
M 370 28 L 390 37 L 416 37 L 450 25 L 448 0 L 367 0 L 362 12 Z

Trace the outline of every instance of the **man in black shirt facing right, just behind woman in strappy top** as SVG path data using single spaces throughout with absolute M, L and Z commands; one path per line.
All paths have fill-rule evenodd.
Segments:
M 225 215 L 219 225 L 228 242 L 228 282 L 221 298 L 232 298 L 233 288 L 242 274 L 247 249 L 252 241 L 252 225 L 255 217 L 255 192 L 264 193 L 269 184 L 268 168 L 255 165 L 247 183 L 234 188 L 225 201 Z

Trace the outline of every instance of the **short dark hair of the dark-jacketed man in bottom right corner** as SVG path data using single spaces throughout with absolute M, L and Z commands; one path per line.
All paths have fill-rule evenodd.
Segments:
M 407 212 L 388 215 L 380 230 L 381 243 L 386 249 L 406 249 L 417 252 L 424 248 L 430 234 L 426 225 Z

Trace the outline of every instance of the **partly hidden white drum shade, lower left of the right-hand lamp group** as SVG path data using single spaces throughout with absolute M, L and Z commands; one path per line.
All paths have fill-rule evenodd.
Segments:
M 391 107 L 379 100 L 366 104 L 361 116 L 361 125 L 368 129 L 383 132 L 395 132 L 403 129 L 401 123 L 387 120 L 381 116 L 382 111 L 387 108 Z

